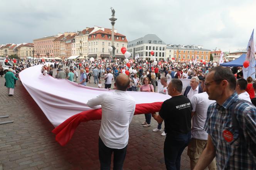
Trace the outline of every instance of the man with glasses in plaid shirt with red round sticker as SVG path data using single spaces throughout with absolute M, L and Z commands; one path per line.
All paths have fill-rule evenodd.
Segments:
M 216 103 L 207 111 L 207 146 L 194 170 L 204 170 L 214 157 L 220 170 L 256 168 L 256 108 L 244 102 L 236 105 L 234 113 L 241 133 L 235 133 L 231 119 L 233 104 L 239 100 L 235 87 L 236 79 L 226 67 L 214 67 L 205 77 L 204 91 Z

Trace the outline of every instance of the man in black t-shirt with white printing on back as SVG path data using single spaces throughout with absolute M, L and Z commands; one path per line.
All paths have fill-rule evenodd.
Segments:
M 180 157 L 191 139 L 191 111 L 190 100 L 181 94 L 182 81 L 172 79 L 168 84 L 168 94 L 172 98 L 163 102 L 159 114 L 152 113 L 152 117 L 162 123 L 165 120 L 167 133 L 163 148 L 165 166 L 167 170 L 180 169 Z

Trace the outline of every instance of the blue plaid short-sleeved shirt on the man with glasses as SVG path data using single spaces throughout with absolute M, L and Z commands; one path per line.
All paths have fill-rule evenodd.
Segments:
M 253 153 L 255 155 L 256 151 L 256 108 L 248 103 L 237 104 L 234 113 L 243 131 L 243 135 L 239 136 L 234 133 L 231 119 L 232 104 L 238 100 L 238 95 L 235 92 L 222 106 L 212 103 L 207 111 L 204 130 L 212 138 L 219 170 L 252 170 L 256 168 L 256 157 L 253 157 Z M 232 133 L 232 141 L 228 142 L 223 138 L 224 130 Z

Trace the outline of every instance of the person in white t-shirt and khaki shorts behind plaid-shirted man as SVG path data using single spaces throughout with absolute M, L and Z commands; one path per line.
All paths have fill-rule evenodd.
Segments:
M 207 109 L 214 100 L 208 99 L 206 92 L 195 94 L 190 100 L 192 104 L 192 129 L 191 141 L 188 146 L 187 155 L 190 158 L 190 169 L 194 169 L 202 151 L 207 145 L 208 134 L 204 131 L 204 124 L 207 117 Z M 209 170 L 216 170 L 215 159 L 209 164 Z

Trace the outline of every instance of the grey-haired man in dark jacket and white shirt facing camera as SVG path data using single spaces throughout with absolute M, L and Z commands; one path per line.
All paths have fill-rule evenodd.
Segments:
M 198 93 L 203 93 L 203 90 L 199 85 L 199 78 L 197 76 L 194 76 L 190 80 L 190 86 L 187 86 L 187 88 L 185 89 L 184 96 L 191 100 L 194 94 Z

